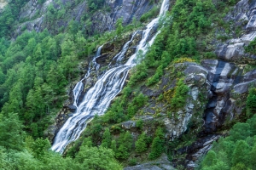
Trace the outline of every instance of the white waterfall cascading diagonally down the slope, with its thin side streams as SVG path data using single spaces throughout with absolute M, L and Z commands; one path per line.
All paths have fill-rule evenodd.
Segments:
M 166 11 L 169 7 L 168 0 L 163 0 L 160 9 L 160 15 L 166 14 Z M 83 89 L 83 82 L 80 81 L 73 90 L 75 97 L 74 105 L 77 106 L 77 111 L 73 114 L 72 117 L 67 119 L 67 122 L 61 127 L 60 131 L 55 136 L 54 144 L 51 147 L 51 150 L 62 153 L 65 150 L 67 144 L 79 138 L 80 134 L 84 131 L 87 123 L 93 118 L 93 116 L 102 115 L 107 111 L 110 102 L 114 97 L 119 94 L 125 79 L 130 71 L 131 67 L 136 65 L 137 52 L 142 50 L 143 54 L 146 53 L 148 46 L 154 42 L 154 38 L 159 33 L 157 32 L 154 37 L 148 41 L 150 36 L 150 31 L 158 24 L 160 16 L 152 20 L 147 29 L 143 31 L 143 38 L 137 46 L 136 54 L 133 54 L 130 59 L 125 63 L 125 65 L 118 65 L 109 71 L 107 71 L 102 77 L 96 82 L 96 84 L 89 89 L 89 91 L 84 95 L 84 99 L 81 104 L 78 105 L 77 101 L 79 98 L 80 90 Z M 121 52 L 117 54 L 113 59 L 121 60 L 126 53 L 129 43 L 132 41 L 136 33 L 133 34 L 131 40 L 126 42 Z M 148 42 L 148 45 L 147 45 Z M 96 64 L 96 58 L 99 56 L 97 50 L 96 57 L 93 59 L 93 64 L 96 68 L 99 68 L 99 65 Z M 89 77 L 89 73 L 86 74 L 86 77 Z

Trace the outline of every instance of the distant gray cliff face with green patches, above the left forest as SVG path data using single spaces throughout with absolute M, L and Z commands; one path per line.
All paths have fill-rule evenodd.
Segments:
M 31 0 L 21 9 L 14 37 L 25 30 L 48 29 L 53 33 L 61 32 L 67 30 L 72 20 L 84 23 L 82 29 L 89 35 L 112 31 L 119 18 L 123 18 L 124 25 L 128 25 L 133 18 L 139 20 L 152 7 L 153 4 L 146 0 L 135 3 L 132 0 L 109 0 L 104 3 L 103 8 L 91 11 L 86 1 L 62 0 L 56 3 L 53 0 L 47 0 L 44 3 L 38 3 L 38 0 Z

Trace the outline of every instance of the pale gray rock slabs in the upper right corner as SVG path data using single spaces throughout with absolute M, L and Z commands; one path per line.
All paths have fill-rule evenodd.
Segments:
M 215 50 L 218 58 L 239 62 L 241 62 L 242 58 L 253 58 L 253 56 L 245 54 L 244 47 L 256 37 L 255 7 L 255 2 L 241 0 L 236 4 L 232 14 L 228 14 L 227 20 L 234 21 L 236 23 L 235 26 L 243 27 L 246 33 L 225 43 L 219 43 Z

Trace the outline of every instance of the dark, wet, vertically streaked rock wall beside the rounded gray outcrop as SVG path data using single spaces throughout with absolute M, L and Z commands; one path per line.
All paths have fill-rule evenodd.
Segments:
M 250 86 L 255 86 L 256 71 L 242 76 L 242 69 L 235 64 L 216 59 L 206 59 L 201 64 L 209 71 L 207 80 L 211 82 L 212 91 L 205 111 L 205 130 L 213 132 L 226 120 L 241 114 L 241 107 L 236 105 L 239 99 L 232 96 L 246 94 Z

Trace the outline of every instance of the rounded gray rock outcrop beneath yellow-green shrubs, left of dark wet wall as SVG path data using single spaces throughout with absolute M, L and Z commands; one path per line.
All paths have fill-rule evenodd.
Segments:
M 177 66 L 182 65 L 186 66 L 186 69 L 184 70 L 184 73 L 186 74 L 184 83 L 189 87 L 189 98 L 183 109 L 177 111 L 177 113 L 172 113 L 173 118 L 165 118 L 164 120 L 168 132 L 167 137 L 172 140 L 176 139 L 187 130 L 189 120 L 195 114 L 195 105 L 198 105 L 198 107 L 205 106 L 201 104 L 198 99 L 200 93 L 199 89 L 207 89 L 209 86 L 209 82 L 207 81 L 208 71 L 204 67 L 189 62 L 178 64 Z M 177 115 L 177 117 L 174 115 Z

